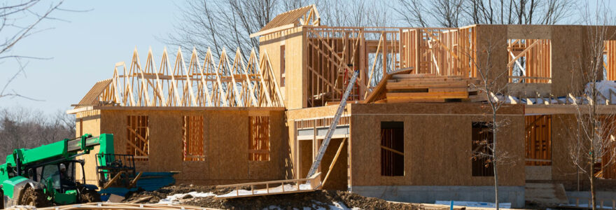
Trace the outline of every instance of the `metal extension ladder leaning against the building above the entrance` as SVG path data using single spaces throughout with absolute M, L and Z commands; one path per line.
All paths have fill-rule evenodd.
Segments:
M 338 120 L 340 120 L 340 116 L 342 116 L 342 112 L 344 112 L 344 108 L 346 107 L 346 99 L 349 98 L 349 94 L 351 94 L 351 90 L 353 90 L 353 85 L 355 85 L 355 81 L 357 80 L 357 76 L 359 71 L 353 72 L 353 77 L 351 77 L 351 81 L 348 85 L 346 85 L 346 90 L 342 95 L 342 100 L 340 101 L 340 105 L 338 106 L 338 110 L 336 111 L 336 115 L 332 120 L 332 124 L 328 129 L 327 134 L 325 134 L 325 139 L 323 139 L 323 144 L 321 144 L 321 148 L 318 148 L 318 153 L 314 162 L 312 162 L 312 166 L 310 167 L 310 171 L 308 172 L 307 178 L 312 176 L 316 169 L 318 169 L 318 165 L 321 165 L 321 160 L 323 159 L 323 155 L 325 154 L 325 150 L 327 150 L 327 146 L 330 144 L 330 140 L 332 139 L 332 135 L 334 134 L 334 130 L 336 130 L 336 126 L 338 125 Z

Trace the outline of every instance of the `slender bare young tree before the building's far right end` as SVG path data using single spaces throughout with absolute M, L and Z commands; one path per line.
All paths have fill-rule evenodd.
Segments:
M 568 130 L 571 134 L 569 156 L 578 171 L 587 176 L 590 182 L 592 208 L 596 209 L 596 165 L 609 167 L 616 162 L 616 114 L 601 111 L 601 104 L 607 104 L 601 90 L 603 80 L 603 50 L 605 40 L 614 39 L 616 31 L 607 27 L 616 23 L 616 17 L 605 6 L 605 2 L 597 1 L 596 10 L 591 11 L 585 6 L 582 11 L 583 31 L 587 37 L 584 41 L 584 52 L 580 60 L 575 62 L 572 73 L 573 90 L 570 98 L 577 110 L 575 123 Z M 575 77 L 574 77 L 575 75 Z M 579 87 L 576 83 L 586 83 Z M 609 93 L 608 93 L 609 94 Z

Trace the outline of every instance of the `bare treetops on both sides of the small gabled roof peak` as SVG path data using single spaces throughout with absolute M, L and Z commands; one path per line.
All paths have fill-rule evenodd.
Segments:
M 243 52 L 259 50 L 258 38 L 250 34 L 265 27 L 279 13 L 315 4 L 321 24 L 332 26 L 384 26 L 388 18 L 379 1 L 326 0 L 191 0 L 180 8 L 175 31 L 163 38 L 165 43 L 179 45 L 184 50 L 197 48 L 204 55 L 211 48 L 220 56 L 223 48 L 239 47 Z M 366 15 L 370 14 L 370 15 Z M 246 53 L 244 53 L 247 55 Z M 248 60 L 248 57 L 244 57 Z

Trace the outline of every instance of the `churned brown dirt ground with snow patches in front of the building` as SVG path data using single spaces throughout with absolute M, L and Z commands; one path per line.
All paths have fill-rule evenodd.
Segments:
M 230 189 L 217 190 L 214 186 L 178 185 L 160 188 L 153 192 L 137 192 L 127 195 L 123 202 L 157 203 L 168 195 L 184 194 L 190 192 L 214 193 L 223 195 Z M 317 209 L 323 207 L 330 209 L 333 202 L 344 204 L 349 209 L 420 209 L 417 204 L 404 204 L 386 202 L 374 197 L 363 197 L 354 193 L 336 190 L 317 190 L 311 193 L 293 193 L 285 195 L 269 195 L 258 197 L 244 197 L 234 199 L 216 199 L 214 197 L 192 197 L 186 195 L 179 200 L 180 204 L 215 209 L 267 209 L 279 207 L 280 209 L 304 209 L 309 207 Z

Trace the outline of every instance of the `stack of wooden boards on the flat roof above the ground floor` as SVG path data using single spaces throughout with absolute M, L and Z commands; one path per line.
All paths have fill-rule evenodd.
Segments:
M 394 74 L 381 87 L 374 103 L 479 102 L 485 101 L 476 85 L 479 80 L 462 76 Z

